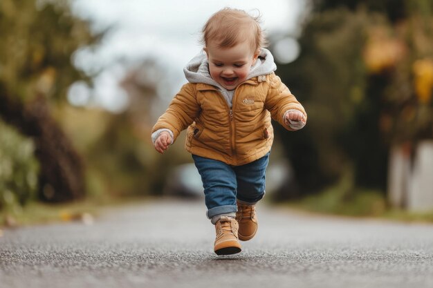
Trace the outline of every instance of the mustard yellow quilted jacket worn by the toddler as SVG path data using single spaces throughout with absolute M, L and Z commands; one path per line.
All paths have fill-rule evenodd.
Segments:
M 218 88 L 187 83 L 152 128 L 167 128 L 174 141 L 187 128 L 185 149 L 195 155 L 238 166 L 263 157 L 273 144 L 271 117 L 293 131 L 284 113 L 306 113 L 275 73 L 253 77 L 234 91 L 232 108 Z

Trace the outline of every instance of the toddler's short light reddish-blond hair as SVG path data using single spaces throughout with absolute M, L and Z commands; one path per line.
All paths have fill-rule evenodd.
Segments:
M 210 41 L 216 48 L 231 48 L 242 41 L 250 41 L 252 51 L 266 46 L 260 16 L 253 17 L 239 9 L 223 8 L 214 13 L 203 26 L 202 33 L 201 44 L 204 46 Z

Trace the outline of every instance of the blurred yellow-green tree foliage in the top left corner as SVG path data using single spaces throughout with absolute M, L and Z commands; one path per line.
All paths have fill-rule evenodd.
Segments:
M 23 100 L 63 99 L 84 77 L 71 63 L 73 52 L 98 40 L 68 0 L 1 0 L 0 35 L 0 83 Z

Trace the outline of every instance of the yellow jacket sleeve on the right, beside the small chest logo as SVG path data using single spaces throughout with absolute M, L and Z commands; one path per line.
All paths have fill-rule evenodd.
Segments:
M 274 73 L 268 77 L 269 89 L 266 95 L 265 107 L 270 112 L 271 117 L 279 124 L 284 126 L 288 131 L 295 131 L 284 121 L 284 115 L 288 110 L 297 110 L 307 118 L 304 107 L 297 101 L 287 86 Z

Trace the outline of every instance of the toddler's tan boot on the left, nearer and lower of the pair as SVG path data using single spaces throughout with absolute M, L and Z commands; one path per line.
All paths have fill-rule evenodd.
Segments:
M 230 255 L 241 251 L 237 238 L 239 224 L 234 218 L 222 216 L 215 224 L 216 239 L 214 251 L 218 255 Z

